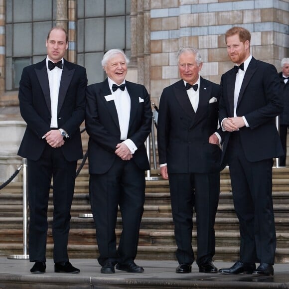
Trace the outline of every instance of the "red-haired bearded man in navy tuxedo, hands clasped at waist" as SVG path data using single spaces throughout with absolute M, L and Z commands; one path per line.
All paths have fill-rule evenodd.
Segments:
M 283 109 L 280 79 L 273 65 L 252 57 L 247 29 L 232 27 L 225 38 L 229 58 L 237 65 L 221 78 L 219 120 L 226 131 L 222 160 L 230 167 L 241 245 L 240 261 L 219 272 L 272 276 L 272 166 L 273 157 L 283 155 L 275 123 Z

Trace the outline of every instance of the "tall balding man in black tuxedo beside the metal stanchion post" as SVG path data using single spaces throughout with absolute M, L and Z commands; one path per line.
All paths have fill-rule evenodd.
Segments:
M 25 67 L 19 106 L 27 128 L 18 154 L 27 158 L 29 258 L 31 273 L 46 269 L 47 207 L 53 177 L 54 271 L 79 273 L 68 260 L 70 208 L 77 160 L 83 158 L 79 126 L 85 116 L 85 68 L 66 61 L 67 32 L 53 27 L 46 39 L 47 57 Z

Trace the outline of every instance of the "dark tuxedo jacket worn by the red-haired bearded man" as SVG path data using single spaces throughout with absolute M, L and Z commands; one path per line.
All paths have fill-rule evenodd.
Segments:
M 222 75 L 219 121 L 233 117 L 236 72 L 232 68 Z M 283 155 L 276 128 L 276 119 L 283 111 L 282 91 L 276 68 L 254 57 L 249 63 L 241 86 L 237 116 L 245 116 L 249 128 L 240 129 L 241 144 L 247 160 L 259 161 Z M 227 160 L 227 144 L 230 133 L 223 142 L 223 165 Z

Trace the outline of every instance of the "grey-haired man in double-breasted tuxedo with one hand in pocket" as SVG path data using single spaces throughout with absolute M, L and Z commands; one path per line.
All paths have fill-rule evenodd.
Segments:
M 199 76 L 202 60 L 195 48 L 180 48 L 178 67 L 182 79 L 163 90 L 157 122 L 160 173 L 169 180 L 179 263 L 176 273 L 191 272 L 195 260 L 194 209 L 199 272 L 217 273 L 212 258 L 220 194 L 221 136 L 215 133 L 220 86 Z

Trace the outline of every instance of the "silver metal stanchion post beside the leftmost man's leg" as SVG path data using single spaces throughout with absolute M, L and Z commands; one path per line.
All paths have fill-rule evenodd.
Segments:
M 27 255 L 27 159 L 23 158 L 23 255 L 8 255 L 7 259 L 29 259 L 29 255 Z

